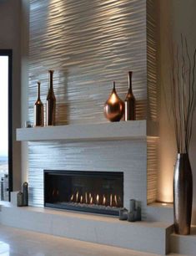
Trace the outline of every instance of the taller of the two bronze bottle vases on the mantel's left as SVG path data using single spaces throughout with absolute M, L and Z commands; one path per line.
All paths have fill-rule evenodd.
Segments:
M 53 70 L 49 73 L 49 89 L 46 101 L 46 125 L 55 125 L 56 97 L 53 92 Z

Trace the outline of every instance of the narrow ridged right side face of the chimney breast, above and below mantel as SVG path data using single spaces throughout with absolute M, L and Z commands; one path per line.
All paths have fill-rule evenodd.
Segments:
M 147 119 L 158 121 L 156 0 L 147 1 Z M 158 139 L 147 140 L 147 202 L 157 199 Z

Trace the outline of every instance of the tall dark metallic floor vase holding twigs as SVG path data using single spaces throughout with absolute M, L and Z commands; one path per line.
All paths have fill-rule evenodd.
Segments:
M 178 154 L 173 175 L 174 231 L 190 233 L 193 202 L 193 177 L 188 153 Z

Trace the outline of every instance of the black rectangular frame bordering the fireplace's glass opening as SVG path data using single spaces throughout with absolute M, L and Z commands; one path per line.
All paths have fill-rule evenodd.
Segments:
M 113 177 L 120 178 L 122 180 L 122 188 L 123 188 L 123 172 L 99 172 L 99 171 L 65 171 L 65 170 L 43 170 L 43 191 L 44 191 L 44 207 L 52 207 L 57 209 L 63 209 L 68 211 L 77 211 L 77 212 L 89 212 L 96 214 L 104 214 L 104 215 L 113 215 L 118 216 L 119 210 L 123 207 L 88 207 L 85 205 L 72 205 L 66 202 L 64 203 L 56 203 L 56 202 L 46 202 L 47 198 L 47 190 L 46 190 L 46 180 L 48 175 L 61 175 L 61 176 L 74 176 L 78 177 L 88 177 L 89 173 L 93 175 L 93 177 Z M 123 203 L 123 191 L 122 191 L 122 203 Z

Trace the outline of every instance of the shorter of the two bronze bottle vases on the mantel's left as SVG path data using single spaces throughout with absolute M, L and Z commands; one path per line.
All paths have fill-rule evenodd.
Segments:
M 34 105 L 34 126 L 43 126 L 43 103 L 40 99 L 40 82 L 38 82 L 38 100 Z

